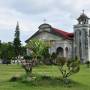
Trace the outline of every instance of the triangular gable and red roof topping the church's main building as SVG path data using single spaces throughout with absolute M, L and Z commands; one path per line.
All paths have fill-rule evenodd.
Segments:
M 32 38 L 38 38 L 43 40 L 72 40 L 73 36 L 73 33 L 68 33 L 63 30 L 53 28 L 51 27 L 51 25 L 44 23 L 39 26 L 39 30 L 35 34 L 33 34 L 29 39 L 27 39 L 26 42 L 28 42 Z

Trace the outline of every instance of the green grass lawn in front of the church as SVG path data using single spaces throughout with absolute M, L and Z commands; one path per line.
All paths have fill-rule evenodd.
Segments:
M 75 82 L 70 87 L 64 86 L 60 80 L 61 76 L 56 66 L 38 66 L 33 69 L 33 74 L 38 76 L 50 76 L 53 80 L 38 80 L 32 82 L 10 82 L 13 76 L 22 76 L 25 72 L 20 65 L 0 64 L 0 90 L 90 90 L 90 68 L 81 66 L 79 73 L 72 75 L 70 79 Z

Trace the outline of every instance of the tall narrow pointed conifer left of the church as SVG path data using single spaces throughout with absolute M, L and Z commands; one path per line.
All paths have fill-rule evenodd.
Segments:
M 21 41 L 20 41 L 20 31 L 19 30 L 20 30 L 19 24 L 17 22 L 16 30 L 15 30 L 15 38 L 13 41 L 15 57 L 17 57 L 17 58 L 21 53 Z

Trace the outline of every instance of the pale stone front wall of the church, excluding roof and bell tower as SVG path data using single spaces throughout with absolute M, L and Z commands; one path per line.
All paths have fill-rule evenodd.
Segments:
M 51 26 L 47 24 L 43 24 L 39 27 L 39 33 L 33 37 L 33 39 L 41 39 L 44 40 L 45 42 L 48 42 L 50 44 L 49 48 L 49 53 L 52 54 L 57 53 L 57 49 L 60 47 L 63 50 L 63 57 L 70 58 L 72 57 L 72 41 L 65 39 L 65 36 L 62 35 L 60 36 L 59 34 L 54 34 L 51 31 Z M 64 32 L 63 32 L 64 33 Z M 69 36 L 67 36 L 69 37 Z M 68 52 L 66 51 L 66 48 Z M 29 49 L 28 49 L 29 50 Z M 30 52 L 27 50 L 27 53 L 29 54 Z

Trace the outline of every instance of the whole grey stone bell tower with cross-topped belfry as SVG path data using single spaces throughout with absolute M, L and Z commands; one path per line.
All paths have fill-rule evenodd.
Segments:
M 78 24 L 74 25 L 74 56 L 82 63 L 90 61 L 90 24 L 88 16 L 83 13 L 77 18 Z

